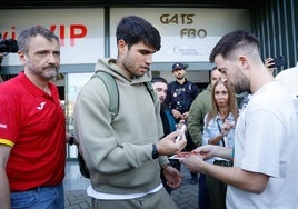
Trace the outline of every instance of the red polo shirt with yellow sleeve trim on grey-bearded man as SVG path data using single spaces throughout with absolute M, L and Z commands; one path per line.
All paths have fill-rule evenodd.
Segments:
M 7 175 L 11 191 L 62 182 L 66 119 L 58 89 L 51 96 L 21 72 L 0 84 L 0 143 L 11 147 Z

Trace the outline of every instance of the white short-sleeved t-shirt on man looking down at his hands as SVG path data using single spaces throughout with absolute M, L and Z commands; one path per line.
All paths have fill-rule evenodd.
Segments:
M 298 208 L 298 122 L 292 100 L 276 81 L 256 93 L 235 130 L 234 166 L 270 176 L 257 195 L 231 186 L 227 208 Z

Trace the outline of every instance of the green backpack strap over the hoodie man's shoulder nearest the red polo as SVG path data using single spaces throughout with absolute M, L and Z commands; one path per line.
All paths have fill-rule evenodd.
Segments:
M 91 79 L 92 78 L 101 79 L 108 90 L 109 100 L 110 100 L 109 112 L 111 116 L 111 121 L 113 121 L 113 119 L 116 118 L 119 111 L 119 90 L 118 90 L 116 80 L 111 74 L 105 71 L 97 71 L 91 77 Z

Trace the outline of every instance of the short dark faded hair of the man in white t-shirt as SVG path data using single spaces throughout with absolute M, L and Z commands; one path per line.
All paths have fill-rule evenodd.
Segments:
M 212 49 L 209 60 L 215 62 L 215 58 L 221 54 L 224 58 L 231 56 L 231 52 L 241 47 L 254 47 L 259 49 L 259 40 L 252 33 L 245 30 L 235 30 L 225 34 Z

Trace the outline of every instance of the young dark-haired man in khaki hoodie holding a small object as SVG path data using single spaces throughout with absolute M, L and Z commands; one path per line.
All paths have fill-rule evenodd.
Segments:
M 180 185 L 182 176 L 167 156 L 179 152 L 187 141 L 183 136 L 176 142 L 179 131 L 160 140 L 160 103 L 143 84 L 151 80 L 149 67 L 160 49 L 160 34 L 142 18 L 130 16 L 120 20 L 116 37 L 117 60 L 99 59 L 95 70 L 116 79 L 117 117 L 111 120 L 101 79 L 91 79 L 76 102 L 76 137 L 90 170 L 87 193 L 93 208 L 177 208 L 162 187 L 160 169 L 170 187 Z

